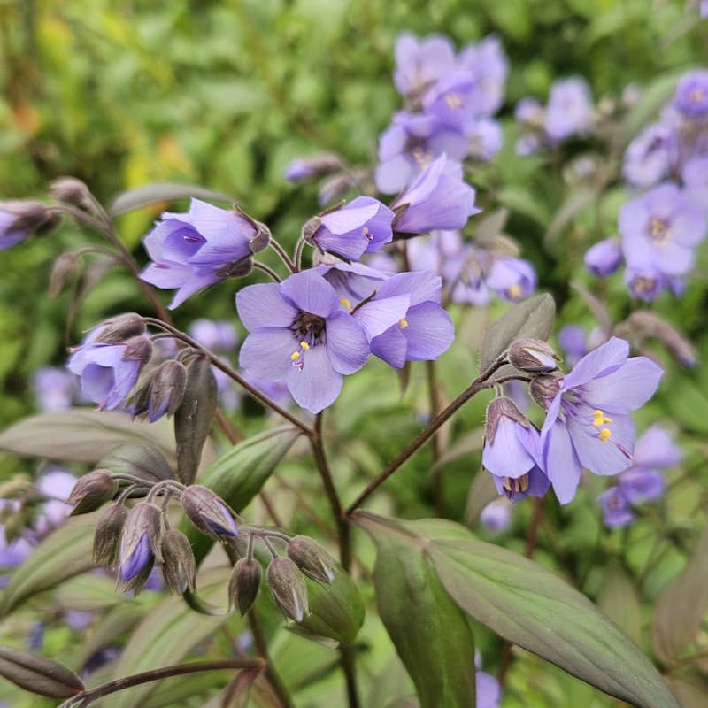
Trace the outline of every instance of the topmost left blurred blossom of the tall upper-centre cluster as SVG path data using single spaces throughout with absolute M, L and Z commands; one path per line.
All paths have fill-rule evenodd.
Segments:
M 452 42 L 443 35 L 417 39 L 410 33 L 396 40 L 394 84 L 403 96 L 419 96 L 455 65 Z

